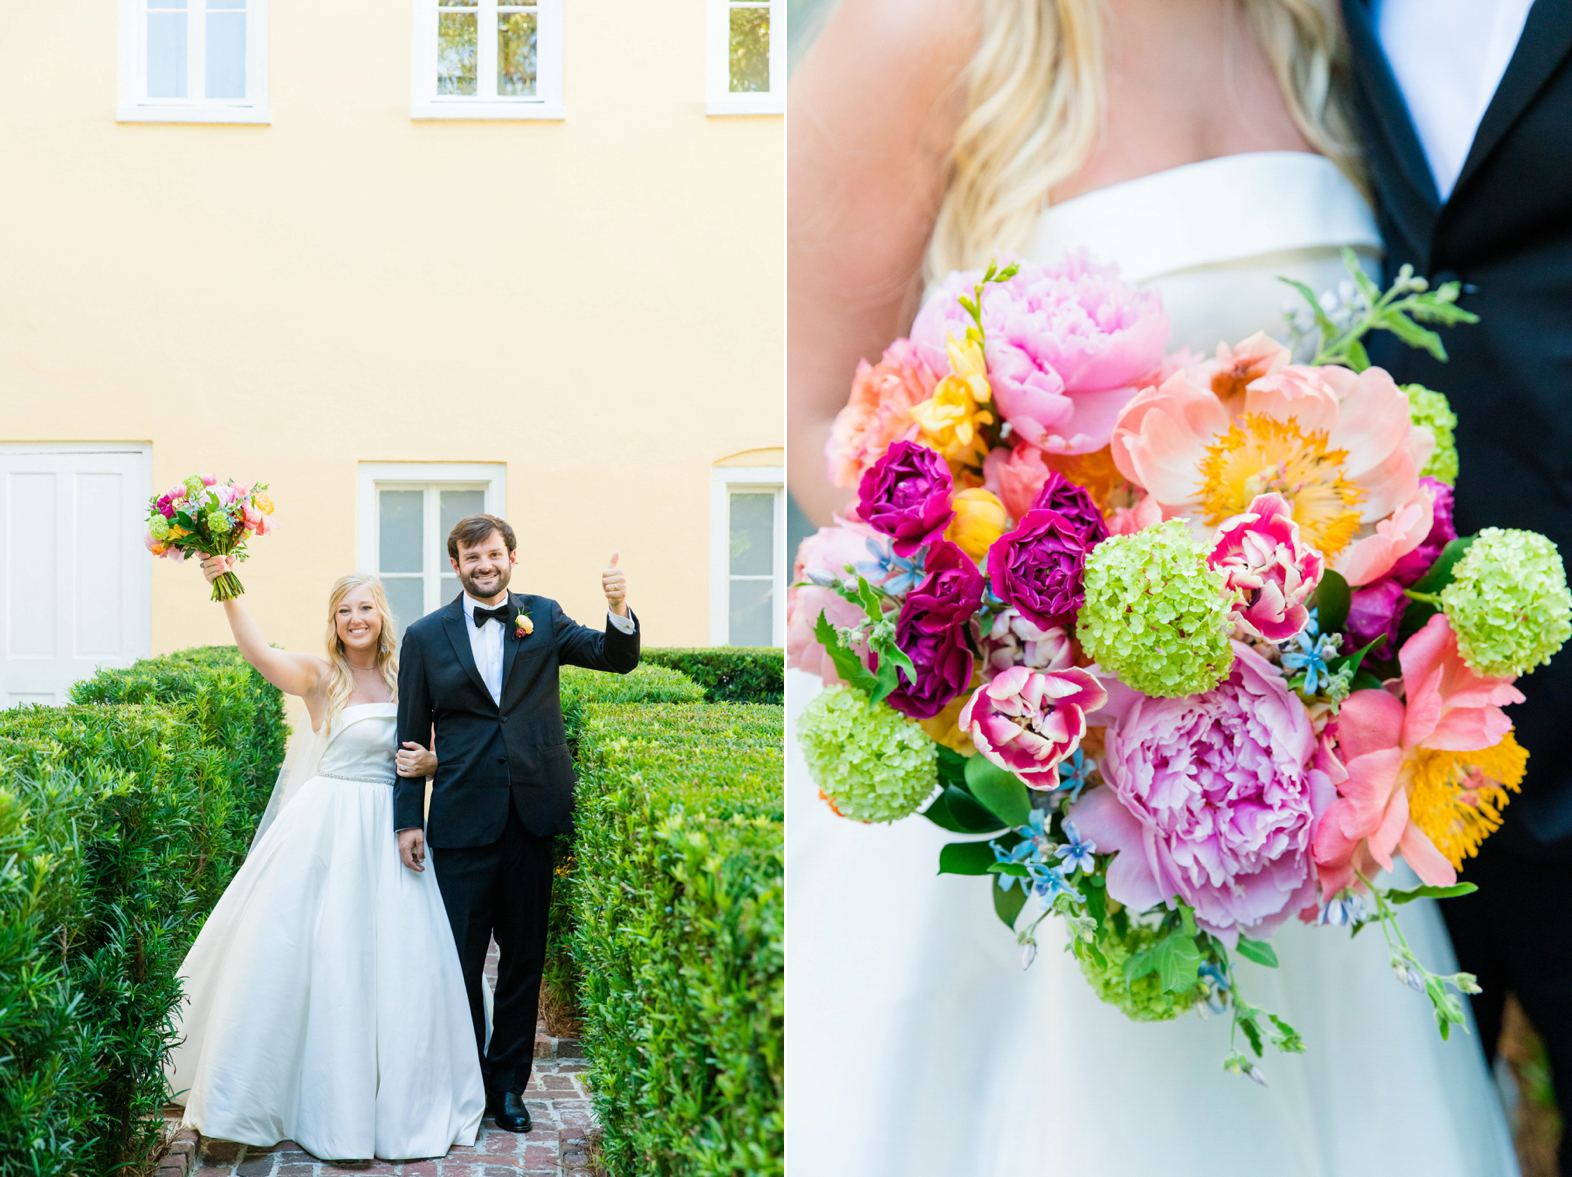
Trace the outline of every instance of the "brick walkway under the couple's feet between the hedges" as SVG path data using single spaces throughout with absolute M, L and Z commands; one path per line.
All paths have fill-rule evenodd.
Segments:
M 486 965 L 495 982 L 495 944 Z M 525 1089 L 534 1128 L 527 1135 L 501 1131 L 487 1119 L 473 1149 L 453 1149 L 446 1157 L 396 1164 L 330 1164 L 303 1152 L 292 1141 L 255 1149 L 228 1141 L 203 1141 L 184 1131 L 160 1163 L 157 1177 L 327 1177 L 341 1172 L 391 1177 L 588 1177 L 593 1171 L 586 1136 L 594 1128 L 594 1109 L 585 1091 L 588 1064 L 577 1042 L 547 1037 L 544 1028 L 536 1034 L 534 1056 L 534 1070 Z

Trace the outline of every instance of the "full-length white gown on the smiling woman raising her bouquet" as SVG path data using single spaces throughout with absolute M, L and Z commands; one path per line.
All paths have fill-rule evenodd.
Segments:
M 344 707 L 181 966 L 185 1124 L 324 1160 L 440 1157 L 486 1108 L 431 860 L 393 838 L 393 702 Z

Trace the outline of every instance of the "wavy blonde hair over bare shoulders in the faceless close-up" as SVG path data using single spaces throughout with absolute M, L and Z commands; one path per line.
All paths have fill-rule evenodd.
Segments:
M 1232 0 L 1309 145 L 1363 189 L 1335 0 Z M 1086 162 L 1104 124 L 1102 0 L 982 0 L 967 115 L 924 259 L 929 281 L 1027 244 L 1050 189 Z

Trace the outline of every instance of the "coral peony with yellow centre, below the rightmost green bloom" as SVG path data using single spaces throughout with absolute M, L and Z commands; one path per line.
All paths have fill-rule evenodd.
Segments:
M 1398 662 L 1407 702 L 1364 690 L 1338 712 L 1347 779 L 1314 844 L 1325 897 L 1352 885 L 1355 872 L 1390 871 L 1394 853 L 1426 883 L 1454 883 L 1464 856 L 1500 825 L 1503 786 L 1522 776 L 1515 743 L 1504 746 L 1512 721 L 1501 707 L 1523 695 L 1509 679 L 1468 669 L 1446 618 L 1431 618 Z M 1481 770 L 1497 776 L 1486 781 Z

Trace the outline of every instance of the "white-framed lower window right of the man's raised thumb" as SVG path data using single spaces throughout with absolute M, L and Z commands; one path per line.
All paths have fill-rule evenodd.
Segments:
M 786 486 L 781 467 L 711 470 L 709 640 L 786 643 Z

